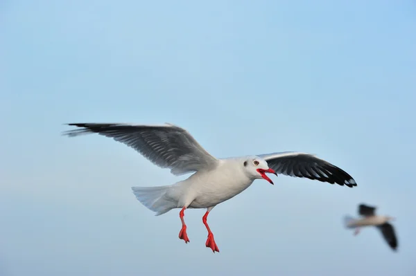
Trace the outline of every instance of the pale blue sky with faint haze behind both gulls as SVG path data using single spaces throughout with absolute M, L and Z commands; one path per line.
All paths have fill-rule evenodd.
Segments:
M 152 3 L 153 2 L 153 3 Z M 198 2 L 198 3 L 197 3 Z M 415 1 L 0 3 L 0 275 L 415 275 Z M 171 122 L 217 157 L 306 151 L 349 189 L 279 176 L 209 216 L 132 186 L 175 177 L 67 122 Z M 399 250 L 343 228 L 397 217 Z

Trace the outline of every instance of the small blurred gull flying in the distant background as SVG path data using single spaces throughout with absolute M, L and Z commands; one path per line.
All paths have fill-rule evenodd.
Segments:
M 383 234 L 383 238 L 388 243 L 392 250 L 397 250 L 397 237 L 395 233 L 395 228 L 388 223 L 388 221 L 394 221 L 394 217 L 389 216 L 380 216 L 375 214 L 376 207 L 369 206 L 365 204 L 358 205 L 358 214 L 360 214 L 362 219 L 354 219 L 350 216 L 345 216 L 344 223 L 346 228 L 355 229 L 354 235 L 357 235 L 361 228 L 366 226 L 376 226 Z

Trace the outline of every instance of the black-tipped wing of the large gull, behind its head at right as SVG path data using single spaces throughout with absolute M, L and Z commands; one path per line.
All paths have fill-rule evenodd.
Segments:
M 267 161 L 270 168 L 277 174 L 309 178 L 327 183 L 337 183 L 347 187 L 356 186 L 354 178 L 339 167 L 328 163 L 312 154 L 296 151 L 276 152 L 273 154 L 260 154 L 259 157 Z

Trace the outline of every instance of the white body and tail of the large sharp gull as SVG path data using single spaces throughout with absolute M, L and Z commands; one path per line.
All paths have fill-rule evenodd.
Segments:
M 164 214 L 173 208 L 214 208 L 250 187 L 256 179 L 245 173 L 242 158 L 220 159 L 218 167 L 199 171 L 184 181 L 161 187 L 132 187 L 147 208 Z

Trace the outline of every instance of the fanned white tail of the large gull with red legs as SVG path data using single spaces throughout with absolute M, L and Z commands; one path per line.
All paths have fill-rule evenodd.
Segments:
M 166 192 L 171 188 L 168 186 L 157 187 L 132 187 L 133 194 L 141 204 L 149 210 L 156 212 L 156 216 L 164 214 L 173 208 L 177 208 L 177 203 L 169 200 L 165 196 Z

